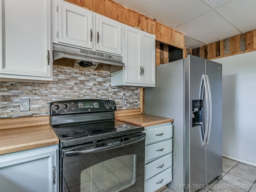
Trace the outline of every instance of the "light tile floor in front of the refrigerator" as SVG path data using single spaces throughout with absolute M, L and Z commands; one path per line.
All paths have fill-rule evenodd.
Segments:
M 223 157 L 222 179 L 197 192 L 256 192 L 256 167 Z M 161 192 L 174 192 L 166 188 Z

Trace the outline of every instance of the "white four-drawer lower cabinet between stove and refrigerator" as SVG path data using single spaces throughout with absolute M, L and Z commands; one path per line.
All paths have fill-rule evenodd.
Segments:
M 145 192 L 172 181 L 172 124 L 145 127 Z

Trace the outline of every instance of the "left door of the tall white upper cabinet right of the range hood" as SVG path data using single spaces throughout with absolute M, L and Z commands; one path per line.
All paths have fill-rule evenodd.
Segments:
M 124 27 L 124 82 L 140 83 L 141 68 L 141 31 L 129 26 Z

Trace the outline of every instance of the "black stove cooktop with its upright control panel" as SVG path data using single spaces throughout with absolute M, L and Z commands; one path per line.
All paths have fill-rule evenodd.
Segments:
M 115 120 L 114 111 L 112 100 L 57 101 L 50 104 L 50 122 L 62 147 L 144 131 L 144 127 Z

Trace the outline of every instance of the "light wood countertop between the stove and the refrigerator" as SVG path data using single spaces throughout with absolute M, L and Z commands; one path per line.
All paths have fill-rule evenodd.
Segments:
M 116 117 L 116 120 L 135 124 L 138 126 L 152 126 L 162 123 L 168 123 L 168 122 L 174 122 L 174 119 L 172 118 L 164 118 L 164 117 L 158 117 L 158 116 L 152 116 L 152 115 L 128 115 L 128 116 L 118 116 Z

